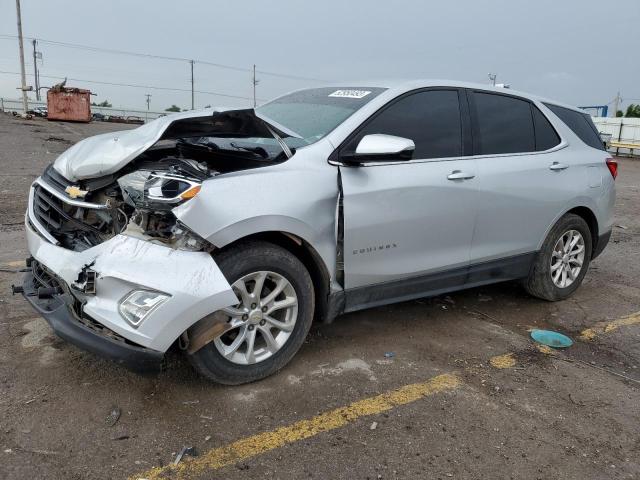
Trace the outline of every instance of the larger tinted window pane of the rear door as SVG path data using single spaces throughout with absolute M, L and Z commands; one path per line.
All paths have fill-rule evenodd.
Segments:
M 480 155 L 536 150 L 530 103 L 519 98 L 474 92 Z

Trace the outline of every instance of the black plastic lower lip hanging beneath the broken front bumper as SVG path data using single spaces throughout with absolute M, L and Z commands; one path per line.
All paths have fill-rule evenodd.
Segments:
M 157 373 L 162 370 L 163 352 L 99 335 L 74 317 L 71 295 L 63 293 L 38 298 L 35 285 L 33 274 L 27 273 L 23 279 L 22 295 L 60 338 L 137 373 Z

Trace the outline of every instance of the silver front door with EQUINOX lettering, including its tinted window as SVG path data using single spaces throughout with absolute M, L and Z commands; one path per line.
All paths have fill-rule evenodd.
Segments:
M 458 268 L 461 276 L 451 281 L 464 280 L 477 185 L 475 160 L 465 158 L 471 148 L 467 112 L 462 90 L 412 92 L 377 112 L 339 149 L 352 153 L 368 134 L 410 138 L 416 145 L 409 161 L 340 167 L 345 287 L 383 284 L 362 304 L 415 296 L 425 284 L 401 281 L 432 272 Z

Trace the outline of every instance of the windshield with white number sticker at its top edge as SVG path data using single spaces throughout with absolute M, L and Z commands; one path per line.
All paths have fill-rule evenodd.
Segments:
M 262 105 L 256 112 L 297 133 L 286 137 L 290 147 L 317 142 L 356 110 L 384 92 L 376 87 L 323 87 L 290 93 Z

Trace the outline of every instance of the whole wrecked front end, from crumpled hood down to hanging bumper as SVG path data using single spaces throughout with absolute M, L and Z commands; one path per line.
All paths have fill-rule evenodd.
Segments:
M 203 182 L 288 159 L 253 110 L 190 113 L 79 142 L 32 185 L 23 294 L 63 338 L 134 369 L 237 303 L 173 210 Z M 124 360 L 123 360 L 124 359 Z M 146 369 L 146 368 L 142 368 Z

